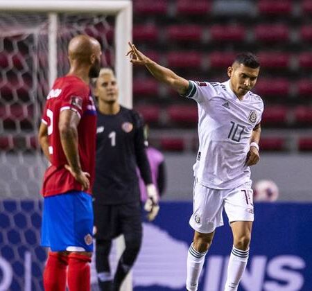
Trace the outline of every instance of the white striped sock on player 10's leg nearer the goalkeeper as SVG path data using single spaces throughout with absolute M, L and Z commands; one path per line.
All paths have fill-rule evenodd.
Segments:
M 206 254 L 207 252 L 197 252 L 193 248 L 193 243 L 189 247 L 189 253 L 187 254 L 187 290 L 189 291 L 196 291 L 198 288 L 198 279 Z

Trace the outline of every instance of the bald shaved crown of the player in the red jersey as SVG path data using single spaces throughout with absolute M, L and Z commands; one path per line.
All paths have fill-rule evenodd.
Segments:
M 88 61 L 91 55 L 101 51 L 98 41 L 88 35 L 77 35 L 69 42 L 68 55 L 70 60 Z

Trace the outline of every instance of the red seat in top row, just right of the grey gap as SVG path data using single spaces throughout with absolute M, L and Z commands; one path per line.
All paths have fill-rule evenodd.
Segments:
M 293 10 L 292 2 L 289 0 L 260 0 L 258 11 L 261 15 L 289 15 Z

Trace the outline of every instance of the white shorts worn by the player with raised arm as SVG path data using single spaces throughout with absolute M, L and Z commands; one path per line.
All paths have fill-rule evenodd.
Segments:
M 195 179 L 191 227 L 200 233 L 211 233 L 223 226 L 223 207 L 229 222 L 254 221 L 251 182 L 237 188 L 218 190 L 207 188 Z

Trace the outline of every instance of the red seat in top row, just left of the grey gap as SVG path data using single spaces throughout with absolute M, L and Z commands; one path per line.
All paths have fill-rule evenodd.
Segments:
M 177 0 L 177 15 L 207 15 L 211 3 L 207 0 Z

